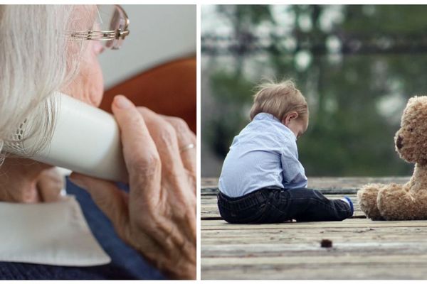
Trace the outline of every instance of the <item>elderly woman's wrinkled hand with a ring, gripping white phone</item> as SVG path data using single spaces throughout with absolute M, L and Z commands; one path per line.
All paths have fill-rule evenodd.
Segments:
M 73 173 L 119 236 L 170 278 L 196 278 L 196 137 L 180 119 L 112 104 L 122 136 L 130 192 Z

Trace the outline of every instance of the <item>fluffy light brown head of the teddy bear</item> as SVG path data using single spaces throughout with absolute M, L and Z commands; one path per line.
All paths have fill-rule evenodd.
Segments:
M 408 100 L 394 143 L 399 156 L 408 163 L 427 164 L 427 96 Z

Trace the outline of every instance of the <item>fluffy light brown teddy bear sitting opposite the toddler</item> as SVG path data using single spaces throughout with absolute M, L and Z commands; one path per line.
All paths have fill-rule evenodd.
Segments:
M 414 163 L 404 185 L 364 185 L 358 192 L 360 209 L 372 220 L 427 219 L 427 96 L 411 97 L 394 136 L 400 158 Z

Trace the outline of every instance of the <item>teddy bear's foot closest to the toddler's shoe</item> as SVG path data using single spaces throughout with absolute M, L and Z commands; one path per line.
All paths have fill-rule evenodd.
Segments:
M 378 197 L 378 192 L 384 185 L 378 183 L 370 183 L 369 185 L 364 185 L 359 191 L 357 191 L 357 199 L 359 200 L 360 209 L 367 215 L 368 218 L 372 220 L 382 220 L 379 209 L 376 206 L 376 198 Z

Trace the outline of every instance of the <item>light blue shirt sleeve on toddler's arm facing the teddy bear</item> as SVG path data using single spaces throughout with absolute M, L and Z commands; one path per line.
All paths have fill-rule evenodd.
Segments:
M 285 146 L 280 155 L 283 167 L 283 184 L 285 187 L 297 188 L 307 187 L 307 177 L 304 167 L 298 160 L 297 149 Z

